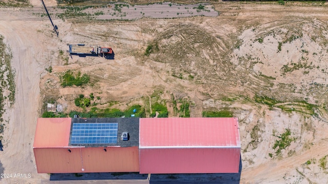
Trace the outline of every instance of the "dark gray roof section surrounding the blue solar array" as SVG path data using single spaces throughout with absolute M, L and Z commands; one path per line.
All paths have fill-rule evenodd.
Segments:
M 118 123 L 117 143 L 116 144 L 73 144 L 73 145 L 71 145 L 73 123 Z M 129 133 L 129 141 L 122 140 L 121 135 L 123 132 Z M 70 146 L 85 146 L 85 147 L 139 146 L 139 118 L 72 118 L 69 144 L 70 144 Z

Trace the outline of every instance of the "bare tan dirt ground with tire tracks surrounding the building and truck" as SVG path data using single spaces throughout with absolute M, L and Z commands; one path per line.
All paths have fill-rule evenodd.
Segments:
M 3 173 L 12 177 L 1 183 L 50 182 L 48 174 L 36 173 L 32 150 L 45 99 L 55 97 L 69 112 L 81 110 L 74 105 L 79 94 L 93 93 L 103 104 L 97 107 L 117 102 L 113 107 L 125 109 L 147 104 L 154 91 L 168 104 L 170 117 L 171 94 L 191 102 L 191 117 L 201 117 L 203 110 L 234 112 L 241 137 L 240 183 L 328 183 L 327 3 L 218 2 L 209 8 L 214 6 L 219 16 L 135 14 L 138 19 L 131 21 L 100 21 L 96 19 L 113 16 L 61 19 L 55 15 L 63 10 L 53 8 L 56 1 L 47 1 L 58 37 L 48 17 L 37 14 L 44 11 L 40 2 L 31 4 L 33 8 L 0 8 L 0 34 L 13 54 L 17 89 L 14 107 L 5 114 L 9 123 L 0 152 Z M 68 43 L 112 47 L 115 59 L 70 58 Z M 145 56 L 149 44 L 157 44 L 158 50 Z M 52 73 L 46 71 L 49 66 Z M 93 85 L 61 87 L 59 75 L 66 70 L 89 74 Z M 265 105 L 256 95 L 278 103 Z M 276 154 L 273 146 L 286 129 L 293 141 Z M 31 177 L 13 177 L 15 173 Z

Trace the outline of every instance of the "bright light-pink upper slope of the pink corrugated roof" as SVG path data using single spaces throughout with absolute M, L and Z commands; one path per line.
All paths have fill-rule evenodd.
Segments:
M 239 147 L 237 118 L 141 118 L 139 148 Z

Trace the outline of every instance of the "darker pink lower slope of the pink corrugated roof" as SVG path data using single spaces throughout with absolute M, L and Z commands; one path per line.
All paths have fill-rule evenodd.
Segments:
M 238 173 L 240 148 L 139 149 L 140 174 Z

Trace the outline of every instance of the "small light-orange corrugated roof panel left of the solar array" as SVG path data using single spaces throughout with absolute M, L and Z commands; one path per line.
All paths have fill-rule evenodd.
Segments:
M 68 146 L 71 118 L 38 118 L 33 148 Z

